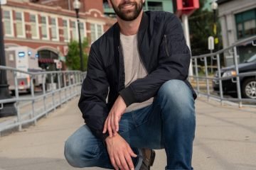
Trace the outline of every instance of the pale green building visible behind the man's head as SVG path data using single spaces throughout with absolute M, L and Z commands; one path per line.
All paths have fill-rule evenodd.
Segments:
M 144 11 L 168 11 L 173 13 L 174 6 L 171 0 L 145 0 Z M 107 0 L 103 0 L 104 13 L 107 16 L 115 16 L 113 8 L 111 8 Z

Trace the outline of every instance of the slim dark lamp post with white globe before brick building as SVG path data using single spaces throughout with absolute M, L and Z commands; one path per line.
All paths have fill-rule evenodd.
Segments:
M 79 55 L 80 55 L 80 69 L 81 71 L 84 71 L 83 68 L 83 58 L 82 58 L 82 42 L 81 42 L 81 34 L 80 34 L 80 21 L 79 21 L 79 9 L 80 9 L 81 3 L 78 0 L 75 0 L 73 2 L 73 8 L 75 9 L 76 18 L 78 20 L 78 36 L 79 36 Z

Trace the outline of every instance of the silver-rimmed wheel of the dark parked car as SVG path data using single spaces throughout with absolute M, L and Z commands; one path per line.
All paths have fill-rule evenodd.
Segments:
M 256 99 L 256 79 L 246 79 L 242 84 L 242 96 Z

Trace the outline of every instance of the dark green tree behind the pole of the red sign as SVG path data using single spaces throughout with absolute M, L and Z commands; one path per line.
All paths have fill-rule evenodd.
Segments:
M 213 11 L 204 9 L 203 6 L 206 4 L 206 0 L 200 0 L 200 8 L 196 10 L 189 19 L 189 32 L 191 34 L 191 52 L 192 55 L 203 55 L 210 53 L 208 50 L 208 37 L 213 34 Z M 216 13 L 218 15 L 218 11 Z M 222 42 L 220 38 L 220 24 L 217 19 L 217 35 L 219 42 L 215 44 L 215 50 L 220 50 Z

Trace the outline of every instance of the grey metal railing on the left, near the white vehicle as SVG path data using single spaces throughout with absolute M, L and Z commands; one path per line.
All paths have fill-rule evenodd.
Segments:
M 15 96 L 0 100 L 0 106 L 4 106 L 4 103 L 14 103 L 17 115 L 1 120 L 0 134 L 13 128 L 22 130 L 23 125 L 29 123 L 36 124 L 39 118 L 47 116 L 50 111 L 55 111 L 63 103 L 80 95 L 82 80 L 86 76 L 86 72 L 80 71 L 24 72 L 12 67 L 0 66 L 0 71 L 2 70 L 13 75 Z M 18 74 L 25 74 L 29 77 L 29 96 L 19 94 Z M 43 77 L 43 83 L 39 91 L 34 87 L 34 80 L 38 76 Z

